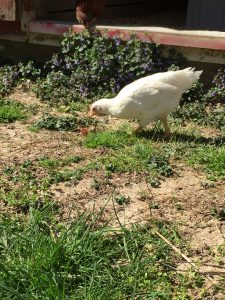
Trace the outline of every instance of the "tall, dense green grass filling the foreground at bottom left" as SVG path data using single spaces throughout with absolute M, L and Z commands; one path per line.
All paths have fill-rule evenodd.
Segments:
M 82 215 L 65 226 L 51 206 L 27 220 L 0 222 L 1 299 L 189 299 L 198 275 L 176 272 L 175 254 L 155 234 L 180 246 L 160 223 L 120 233 L 98 217 Z M 107 234 L 109 233 L 109 234 Z

